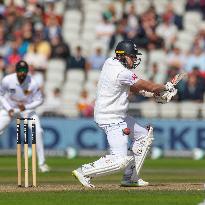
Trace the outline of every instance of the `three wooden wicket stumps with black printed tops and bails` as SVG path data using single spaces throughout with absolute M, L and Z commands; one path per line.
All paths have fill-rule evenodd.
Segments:
M 21 187 L 21 121 L 23 121 L 24 130 L 24 166 L 25 166 L 25 187 L 29 187 L 29 165 L 28 165 L 28 122 L 31 121 L 31 137 L 32 137 L 32 179 L 33 187 L 36 187 L 36 124 L 32 118 L 17 118 L 16 133 L 17 133 L 17 172 L 18 186 Z

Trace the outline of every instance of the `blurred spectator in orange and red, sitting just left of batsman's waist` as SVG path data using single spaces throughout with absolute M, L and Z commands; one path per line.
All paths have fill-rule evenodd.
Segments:
M 80 117 L 93 117 L 94 103 L 91 99 L 89 99 L 88 92 L 86 90 L 83 90 L 81 92 L 81 97 L 79 102 L 77 103 L 77 107 L 80 113 Z

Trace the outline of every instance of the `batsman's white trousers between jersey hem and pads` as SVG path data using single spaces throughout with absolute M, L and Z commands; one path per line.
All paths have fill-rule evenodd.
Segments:
M 140 126 L 133 117 L 126 117 L 117 124 L 99 125 L 106 133 L 110 148 L 110 154 L 117 156 L 128 155 L 128 138 L 133 142 L 142 136 L 146 136 L 148 130 Z M 125 135 L 123 129 L 129 128 L 130 134 Z

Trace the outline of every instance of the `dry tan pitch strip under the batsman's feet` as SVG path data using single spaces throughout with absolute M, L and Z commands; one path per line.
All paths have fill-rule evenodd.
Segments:
M 99 191 L 99 190 L 149 190 L 149 191 L 202 191 L 205 190 L 204 184 L 202 183 L 164 183 L 164 184 L 151 184 L 146 187 L 120 187 L 116 184 L 103 184 L 97 185 L 96 188 L 90 189 L 82 187 L 81 185 L 60 185 L 60 184 L 45 184 L 39 185 L 38 187 L 17 187 L 15 185 L 0 185 L 0 192 L 61 192 L 61 191 Z

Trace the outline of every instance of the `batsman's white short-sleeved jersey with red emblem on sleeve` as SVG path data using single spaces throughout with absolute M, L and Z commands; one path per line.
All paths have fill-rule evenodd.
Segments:
M 106 60 L 98 82 L 94 109 L 98 124 L 118 123 L 126 118 L 129 89 L 137 81 L 137 76 L 117 59 Z

